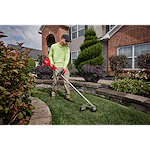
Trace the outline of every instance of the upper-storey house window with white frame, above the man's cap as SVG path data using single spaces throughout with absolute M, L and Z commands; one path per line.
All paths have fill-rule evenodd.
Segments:
M 82 23 L 83 22 L 76 22 L 76 24 L 71 27 L 71 39 L 84 36 L 85 24 Z

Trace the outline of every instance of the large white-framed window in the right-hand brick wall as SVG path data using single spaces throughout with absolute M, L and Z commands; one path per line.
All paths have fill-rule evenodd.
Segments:
M 118 55 L 126 55 L 128 66 L 125 69 L 139 69 L 137 66 L 137 56 L 150 53 L 150 43 L 124 46 L 118 48 Z

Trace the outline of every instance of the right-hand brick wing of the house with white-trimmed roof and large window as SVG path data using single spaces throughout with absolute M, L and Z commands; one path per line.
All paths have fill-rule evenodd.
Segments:
M 100 41 L 108 42 L 108 58 L 112 55 L 127 56 L 129 64 L 125 71 L 138 70 L 137 56 L 150 53 L 150 25 L 148 23 L 116 24 Z M 108 76 L 113 75 L 108 60 Z

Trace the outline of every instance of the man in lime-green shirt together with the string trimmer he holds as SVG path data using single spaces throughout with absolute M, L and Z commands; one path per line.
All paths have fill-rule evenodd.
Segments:
M 88 103 L 88 104 L 82 105 L 80 110 L 83 111 L 88 108 L 92 112 L 96 112 L 97 111 L 96 107 L 90 101 L 88 101 L 74 87 L 74 85 L 72 85 L 69 82 L 70 73 L 69 73 L 69 70 L 67 69 L 67 64 L 69 62 L 69 56 L 70 56 L 70 49 L 67 47 L 67 43 L 69 41 L 70 41 L 69 36 L 63 35 L 61 38 L 61 41 L 59 43 L 52 45 L 52 47 L 50 49 L 50 53 L 49 53 L 49 58 L 47 56 L 43 55 L 42 62 L 46 66 L 50 66 L 53 69 L 54 85 L 53 85 L 53 89 L 52 89 L 52 99 L 55 99 L 55 96 L 57 93 L 57 82 L 59 80 L 59 76 L 61 76 L 64 79 L 64 85 L 65 85 L 65 89 L 66 89 L 66 99 L 70 102 L 74 102 L 70 98 L 70 89 L 69 89 L 69 85 L 70 85 Z M 61 59 L 58 58 L 59 56 L 61 57 Z M 57 68 L 56 68 L 56 65 L 57 65 Z

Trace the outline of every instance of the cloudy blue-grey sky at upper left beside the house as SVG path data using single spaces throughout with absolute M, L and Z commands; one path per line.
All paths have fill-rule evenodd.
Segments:
M 16 42 L 19 42 L 24 43 L 24 47 L 42 50 L 42 35 L 38 33 L 41 24 L 16 24 L 17 22 L 15 22 L 15 24 L 3 23 L 6 22 L 0 22 L 0 31 L 8 37 L 3 37 L 0 40 L 4 42 L 5 46 L 8 44 L 17 45 Z

